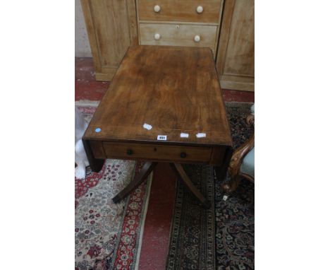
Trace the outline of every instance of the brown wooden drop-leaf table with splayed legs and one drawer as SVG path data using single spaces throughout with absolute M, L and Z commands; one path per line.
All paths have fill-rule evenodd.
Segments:
M 215 165 L 221 178 L 231 159 L 231 133 L 211 49 L 130 47 L 82 141 L 93 171 L 101 170 L 106 158 L 147 160 L 115 203 L 158 162 L 168 162 L 209 208 L 181 163 Z

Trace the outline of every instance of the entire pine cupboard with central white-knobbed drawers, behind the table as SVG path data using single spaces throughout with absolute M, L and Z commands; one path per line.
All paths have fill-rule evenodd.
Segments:
M 222 88 L 254 90 L 254 0 L 81 0 L 98 81 L 130 45 L 212 49 Z

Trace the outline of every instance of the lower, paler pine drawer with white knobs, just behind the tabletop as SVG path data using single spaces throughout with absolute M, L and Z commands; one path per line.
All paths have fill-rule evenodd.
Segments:
M 140 23 L 141 45 L 210 47 L 216 45 L 216 26 Z

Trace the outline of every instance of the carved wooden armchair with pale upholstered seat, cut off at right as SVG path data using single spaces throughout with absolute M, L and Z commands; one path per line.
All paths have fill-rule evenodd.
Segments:
M 247 124 L 255 127 L 255 105 L 252 105 L 251 114 L 247 116 L 246 121 Z M 228 175 L 231 180 L 222 184 L 224 192 L 233 192 L 243 178 L 255 182 L 255 132 L 234 151 L 229 163 Z

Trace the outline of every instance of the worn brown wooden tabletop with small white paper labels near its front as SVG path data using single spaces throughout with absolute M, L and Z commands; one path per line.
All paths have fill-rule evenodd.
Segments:
M 166 141 L 157 140 L 159 135 Z M 211 49 L 130 47 L 84 137 L 231 146 Z

